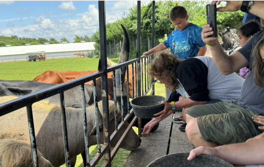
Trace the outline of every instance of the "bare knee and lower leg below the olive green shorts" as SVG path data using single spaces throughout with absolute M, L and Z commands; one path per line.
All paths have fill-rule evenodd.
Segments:
M 188 115 L 188 114 L 186 114 Z M 196 148 L 200 146 L 205 147 L 217 147 L 218 145 L 207 142 L 203 139 L 201 132 L 199 130 L 198 124 L 197 124 L 197 118 L 193 118 L 189 120 L 186 128 L 185 128 L 187 137 L 191 144 L 193 144 Z

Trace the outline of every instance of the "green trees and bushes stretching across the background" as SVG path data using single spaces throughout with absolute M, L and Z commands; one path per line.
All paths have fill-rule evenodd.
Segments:
M 197 24 L 201 27 L 206 23 L 206 4 L 210 4 L 209 1 L 158 1 L 155 2 L 155 38 L 164 37 L 164 34 L 169 36 L 170 32 L 174 30 L 169 12 L 176 5 L 180 5 L 186 8 L 191 23 Z M 223 5 L 221 5 L 223 6 Z M 237 12 L 217 12 L 217 26 L 219 30 L 226 28 L 239 28 L 242 25 L 244 13 Z M 128 13 L 123 13 L 121 19 L 114 22 L 107 23 L 107 42 L 113 42 L 114 40 L 122 41 L 123 31 L 120 26 L 123 24 L 129 34 L 130 39 L 136 40 L 137 38 L 137 6 L 129 8 Z M 152 2 L 141 6 L 141 39 L 151 37 L 152 33 Z M 100 46 L 99 29 L 97 29 L 90 37 L 87 35 L 74 37 L 74 43 L 80 43 L 81 41 L 95 42 L 95 48 Z M 161 40 L 162 41 L 162 40 Z M 58 44 L 54 38 L 47 40 L 45 38 L 18 38 L 17 36 L 4 37 L 0 36 L 0 46 L 22 46 L 30 43 L 30 45 L 40 45 L 49 42 L 50 44 Z M 66 38 L 62 38 L 60 43 L 68 42 Z M 148 48 L 142 48 L 144 52 Z

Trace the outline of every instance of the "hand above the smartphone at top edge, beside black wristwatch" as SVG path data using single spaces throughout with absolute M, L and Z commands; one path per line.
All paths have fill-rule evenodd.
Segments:
M 212 1 L 211 5 L 219 5 L 221 1 Z M 239 11 L 242 1 L 226 1 L 225 7 L 219 7 L 216 9 L 218 12 L 235 12 Z

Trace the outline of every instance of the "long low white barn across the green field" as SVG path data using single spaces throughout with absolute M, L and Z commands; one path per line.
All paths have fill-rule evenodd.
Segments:
M 93 55 L 95 42 L 82 43 L 63 43 L 63 44 L 48 44 L 44 45 L 28 45 L 25 46 L 8 46 L 0 47 L 0 60 L 5 59 L 26 59 L 29 54 L 34 52 L 43 52 L 47 58 L 74 56 L 75 53 L 84 53 Z

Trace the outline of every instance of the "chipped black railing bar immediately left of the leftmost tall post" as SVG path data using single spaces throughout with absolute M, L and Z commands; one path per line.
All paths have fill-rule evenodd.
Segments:
M 97 141 L 97 154 L 101 154 L 101 145 L 100 145 L 100 128 L 98 120 L 98 104 L 97 104 L 97 94 L 96 94 L 96 81 L 92 80 L 93 84 L 93 101 L 94 101 L 94 111 L 95 111 L 95 120 L 96 120 L 96 141 Z

